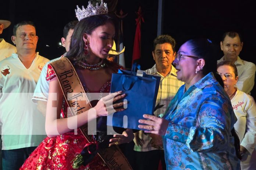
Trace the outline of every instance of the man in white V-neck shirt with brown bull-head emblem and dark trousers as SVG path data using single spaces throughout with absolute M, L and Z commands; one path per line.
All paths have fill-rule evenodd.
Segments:
M 46 137 L 45 120 L 31 101 L 41 69 L 49 60 L 36 53 L 35 25 L 17 23 L 11 37 L 17 53 L 0 62 L 0 125 L 3 169 L 19 169 Z

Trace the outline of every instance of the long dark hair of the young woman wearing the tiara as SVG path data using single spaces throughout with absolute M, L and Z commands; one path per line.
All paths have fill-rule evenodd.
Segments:
M 70 51 L 67 52 L 66 57 L 85 61 L 83 34 L 90 35 L 94 29 L 107 22 L 111 22 L 115 26 L 115 18 L 111 15 L 94 15 L 79 21 L 72 34 Z

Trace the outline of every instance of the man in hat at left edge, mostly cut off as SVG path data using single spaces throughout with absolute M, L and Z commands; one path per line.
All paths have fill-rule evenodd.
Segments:
M 3 33 L 3 30 L 10 26 L 11 22 L 7 20 L 0 20 L 0 34 Z M 3 38 L 0 38 L 0 61 L 11 56 L 12 53 L 16 53 L 16 47 L 4 41 Z

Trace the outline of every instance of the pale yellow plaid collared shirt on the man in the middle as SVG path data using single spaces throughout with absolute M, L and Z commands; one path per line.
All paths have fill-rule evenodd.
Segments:
M 157 72 L 156 64 L 151 69 L 145 70 L 146 74 L 150 75 L 156 75 L 161 77 L 159 90 L 157 93 L 157 99 L 156 99 L 156 107 L 158 108 L 156 111 L 154 111 L 155 116 L 163 117 L 163 113 L 166 111 L 166 108 L 170 101 L 173 99 L 175 94 L 177 93 L 180 86 L 184 84 L 184 82 L 179 81 L 177 79 L 176 69 L 174 66 L 171 66 L 171 71 L 164 77 L 159 72 Z M 161 107 L 161 108 L 159 108 Z M 135 151 L 151 151 L 156 150 L 157 148 L 150 146 L 150 140 L 151 137 L 148 134 L 141 133 L 139 135 L 140 138 L 144 140 L 143 146 L 134 146 Z

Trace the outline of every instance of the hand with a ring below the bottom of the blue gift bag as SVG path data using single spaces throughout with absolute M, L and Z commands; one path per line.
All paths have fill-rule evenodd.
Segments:
M 134 139 L 132 129 L 126 129 L 122 134 L 114 134 L 114 138 L 110 139 L 109 146 L 129 143 Z

